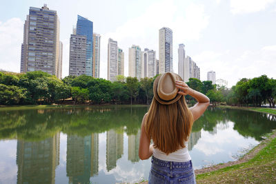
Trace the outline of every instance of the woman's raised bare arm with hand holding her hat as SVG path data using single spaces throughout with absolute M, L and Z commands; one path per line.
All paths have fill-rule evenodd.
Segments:
M 208 108 L 210 99 L 205 94 L 189 88 L 188 85 L 184 83 L 184 81 L 176 81 L 175 84 L 176 87 L 181 90 L 178 92 L 179 94 L 188 94 L 197 100 L 197 103 L 192 108 L 190 108 L 194 121 L 196 121 L 205 112 L 206 108 Z

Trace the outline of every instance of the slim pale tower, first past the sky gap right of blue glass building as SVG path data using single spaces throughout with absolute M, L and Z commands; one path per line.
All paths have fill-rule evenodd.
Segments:
M 116 81 L 118 75 L 118 43 L 108 39 L 108 81 Z

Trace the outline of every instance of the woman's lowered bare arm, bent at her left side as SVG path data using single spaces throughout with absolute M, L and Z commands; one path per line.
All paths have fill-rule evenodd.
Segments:
M 153 152 L 153 146 L 150 145 L 150 139 L 148 138 L 146 134 L 146 129 L 145 129 L 146 116 L 147 114 L 145 114 L 143 121 L 141 123 L 141 135 L 140 135 L 140 143 L 139 143 L 139 158 L 141 160 L 146 160 L 150 158 Z

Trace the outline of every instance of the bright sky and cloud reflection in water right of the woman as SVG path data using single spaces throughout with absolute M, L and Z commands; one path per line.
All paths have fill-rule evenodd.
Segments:
M 245 138 L 236 130 L 233 130 L 234 123 L 218 123 L 213 132 L 201 130 L 201 139 L 190 151 L 195 168 L 216 163 L 235 161 L 235 156 L 243 149 L 257 145 L 258 141 L 253 138 Z M 234 156 L 234 157 L 233 157 Z

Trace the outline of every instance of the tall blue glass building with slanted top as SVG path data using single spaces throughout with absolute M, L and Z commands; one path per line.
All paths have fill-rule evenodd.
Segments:
M 86 36 L 86 75 L 92 76 L 93 62 L 93 22 L 78 15 L 77 34 Z

